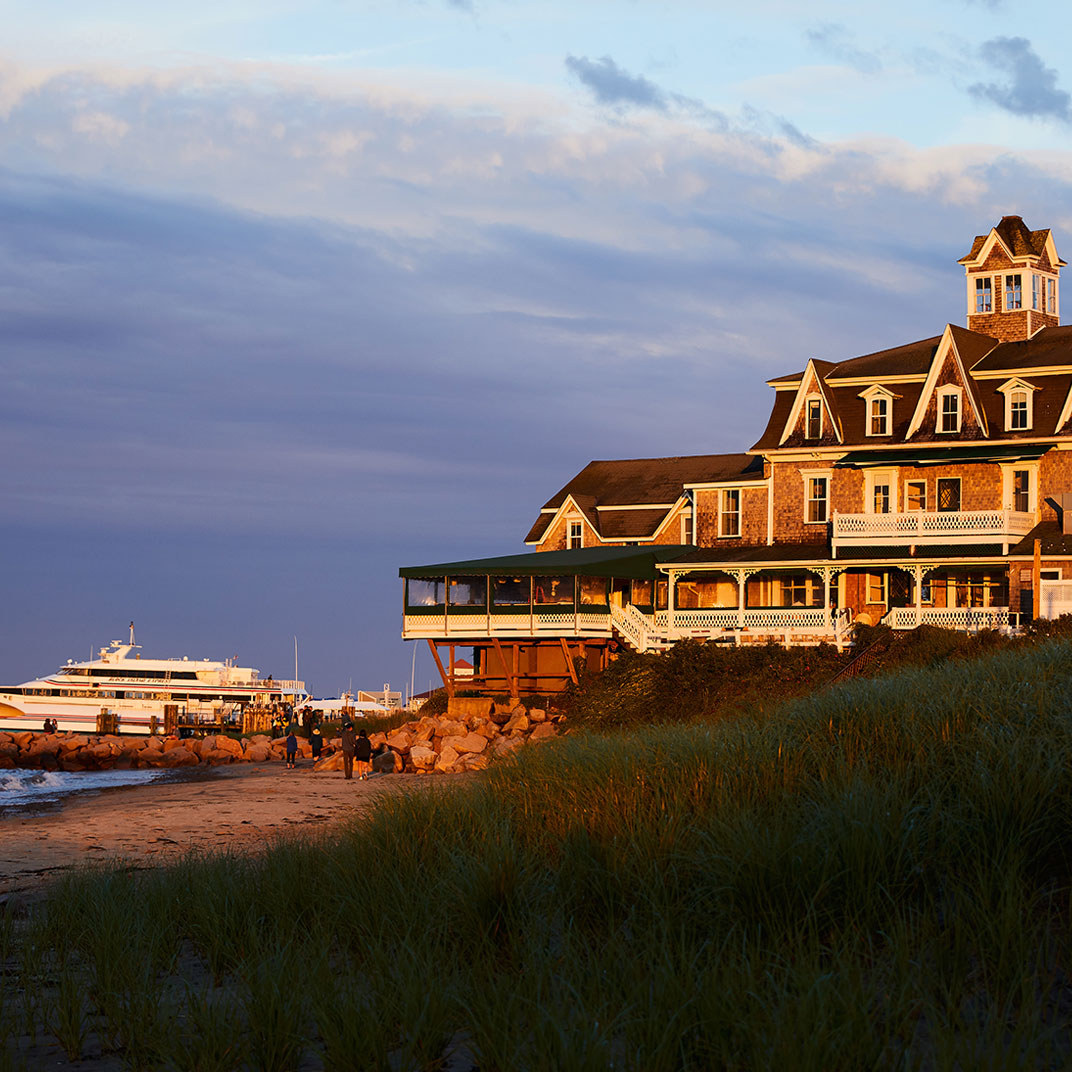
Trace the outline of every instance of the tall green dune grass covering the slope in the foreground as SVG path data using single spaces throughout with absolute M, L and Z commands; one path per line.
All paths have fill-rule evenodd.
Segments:
M 16 1067 L 31 1029 L 152 1069 L 1068 1067 L 1070 698 L 1072 643 L 1025 644 L 79 875 L 0 918 L 0 1032 Z

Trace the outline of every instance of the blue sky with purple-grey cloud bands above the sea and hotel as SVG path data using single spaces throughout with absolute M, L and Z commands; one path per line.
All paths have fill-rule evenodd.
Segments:
M 398 568 L 1072 250 L 1072 5 L 2 2 L 0 682 L 408 685 Z M 413 670 L 433 683 L 427 650 Z

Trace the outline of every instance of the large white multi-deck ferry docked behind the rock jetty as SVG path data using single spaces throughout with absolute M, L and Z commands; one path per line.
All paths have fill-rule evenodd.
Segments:
M 165 726 L 241 725 L 248 706 L 297 708 L 304 682 L 260 679 L 252 667 L 228 659 L 143 659 L 134 643 L 114 640 L 87 662 L 68 660 L 56 673 L 0 687 L 0 730 L 56 728 L 94 733 L 149 733 Z

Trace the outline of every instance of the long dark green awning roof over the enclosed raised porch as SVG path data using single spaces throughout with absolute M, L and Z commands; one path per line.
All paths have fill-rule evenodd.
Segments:
M 403 566 L 399 577 L 621 577 L 631 580 L 654 579 L 660 562 L 672 562 L 695 551 L 688 546 L 585 547 L 572 551 L 531 551 L 497 559 L 470 559 L 466 562 L 440 562 L 431 566 Z

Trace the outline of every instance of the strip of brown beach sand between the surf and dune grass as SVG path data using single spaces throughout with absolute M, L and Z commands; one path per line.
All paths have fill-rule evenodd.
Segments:
M 89 862 L 152 866 L 191 849 L 255 852 L 279 837 L 321 833 L 384 793 L 427 784 L 411 774 L 347 781 L 338 771 L 266 763 L 78 793 L 46 810 L 0 817 L 0 897 L 40 893 Z

